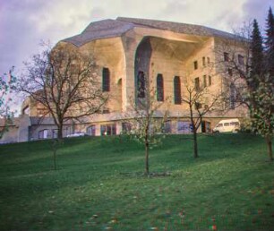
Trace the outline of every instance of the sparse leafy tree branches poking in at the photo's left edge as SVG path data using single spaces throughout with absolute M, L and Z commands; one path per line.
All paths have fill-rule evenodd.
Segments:
M 8 131 L 8 124 L 12 124 L 13 110 L 11 103 L 13 101 L 11 94 L 15 90 L 15 77 L 13 76 L 13 69 L 8 74 L 4 73 L 0 76 L 0 118 L 3 119 L 3 124 L 0 128 L 0 139 L 5 132 Z

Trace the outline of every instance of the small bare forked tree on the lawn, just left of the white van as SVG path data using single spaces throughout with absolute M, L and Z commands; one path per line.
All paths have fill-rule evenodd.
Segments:
M 186 85 L 186 93 L 182 101 L 188 105 L 188 117 L 191 121 L 191 129 L 193 133 L 193 157 L 199 158 L 197 132 L 201 126 L 204 116 L 213 112 L 219 107 L 221 94 L 212 94 L 207 87 L 194 86 L 194 84 Z

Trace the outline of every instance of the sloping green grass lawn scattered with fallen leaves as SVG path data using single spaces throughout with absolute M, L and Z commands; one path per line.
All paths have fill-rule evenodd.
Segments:
M 144 153 L 118 137 L 0 146 L 0 230 L 274 230 L 274 164 L 248 134 L 170 135 Z

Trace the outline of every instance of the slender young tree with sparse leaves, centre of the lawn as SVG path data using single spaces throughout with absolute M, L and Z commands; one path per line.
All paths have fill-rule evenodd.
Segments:
M 139 141 L 145 150 L 145 174 L 150 175 L 150 149 L 157 146 L 164 138 L 164 124 L 167 121 L 167 111 L 159 110 L 167 102 L 159 89 L 155 90 L 152 81 L 145 73 L 138 76 L 135 98 L 131 98 L 132 113 L 131 131 L 128 132 L 135 141 Z M 159 94 L 161 96 L 159 96 Z

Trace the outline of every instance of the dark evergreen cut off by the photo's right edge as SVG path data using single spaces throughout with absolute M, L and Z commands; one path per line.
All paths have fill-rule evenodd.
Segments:
M 274 83 L 274 16 L 270 7 L 266 25 L 266 62 L 267 70 L 270 73 L 270 80 Z

